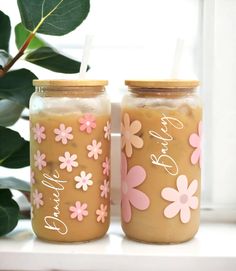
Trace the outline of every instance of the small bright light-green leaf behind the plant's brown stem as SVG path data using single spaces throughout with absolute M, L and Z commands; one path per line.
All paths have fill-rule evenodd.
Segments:
M 15 41 L 16 41 L 16 46 L 18 49 L 22 47 L 28 36 L 30 35 L 30 31 L 28 31 L 22 23 L 19 23 L 15 27 Z M 45 46 L 46 43 L 37 37 L 37 35 L 34 36 L 34 38 L 31 40 L 30 44 L 27 47 L 27 50 L 35 50 L 38 49 L 42 46 Z

